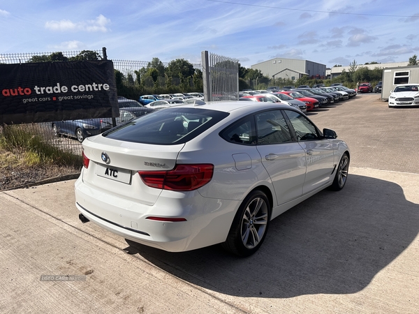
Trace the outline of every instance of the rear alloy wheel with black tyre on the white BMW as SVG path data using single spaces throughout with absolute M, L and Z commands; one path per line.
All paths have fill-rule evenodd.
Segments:
M 271 207 L 265 193 L 251 192 L 237 210 L 223 248 L 242 257 L 258 251 L 265 240 L 270 215 Z

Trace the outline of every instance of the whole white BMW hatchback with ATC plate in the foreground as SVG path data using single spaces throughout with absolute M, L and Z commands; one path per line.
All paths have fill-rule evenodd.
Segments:
M 350 152 L 288 105 L 229 101 L 146 114 L 82 143 L 82 222 L 180 252 L 256 252 L 270 220 L 346 183 Z

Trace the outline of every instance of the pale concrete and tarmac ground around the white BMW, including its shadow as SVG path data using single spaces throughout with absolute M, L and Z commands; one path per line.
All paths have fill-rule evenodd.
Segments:
M 419 108 L 378 94 L 309 113 L 351 147 L 340 192 L 272 220 L 248 258 L 127 244 L 74 181 L 0 193 L 0 313 L 419 313 Z

